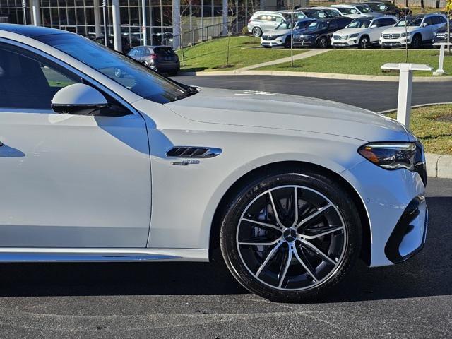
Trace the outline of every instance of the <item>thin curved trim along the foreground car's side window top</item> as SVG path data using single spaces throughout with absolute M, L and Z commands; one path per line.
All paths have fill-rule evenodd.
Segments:
M 102 85 L 102 83 L 99 83 L 95 79 L 91 78 L 90 76 L 88 76 L 87 74 L 83 73 L 82 71 L 79 71 L 78 69 L 74 68 L 70 64 L 66 64 L 64 61 L 61 61 L 60 59 L 57 59 L 56 57 L 53 57 L 50 54 L 42 52 L 39 49 L 36 49 L 35 47 L 31 47 L 28 44 L 23 44 L 21 42 L 17 42 L 17 41 L 6 39 L 4 37 L 0 37 L 0 46 L 2 44 L 6 45 L 6 46 L 18 47 L 18 48 L 23 49 L 23 50 L 25 50 L 27 52 L 30 52 L 30 53 L 35 54 L 35 55 L 38 55 L 38 56 L 40 56 L 40 57 L 42 57 L 44 59 L 47 59 L 52 64 L 57 64 L 58 66 L 60 66 L 60 67 L 62 67 L 64 69 L 67 69 L 69 72 L 71 72 L 71 73 L 75 74 L 76 76 L 80 77 L 84 83 L 88 83 L 89 85 L 93 85 L 95 88 L 97 88 L 101 92 L 104 92 L 107 95 L 109 95 L 110 97 L 112 97 L 114 100 L 117 100 L 117 102 L 119 102 L 121 105 L 123 105 L 124 108 L 126 108 L 129 112 L 131 112 L 131 114 L 136 115 L 138 117 L 142 117 L 141 114 L 135 108 L 133 108 L 133 106 L 131 104 L 129 104 L 129 102 L 124 100 L 121 96 L 117 95 L 117 93 L 114 93 L 112 90 L 110 90 L 109 88 L 105 87 L 105 85 Z

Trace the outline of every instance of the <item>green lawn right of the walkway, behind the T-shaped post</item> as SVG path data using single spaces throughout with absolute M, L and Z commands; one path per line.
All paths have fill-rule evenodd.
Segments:
M 408 50 L 408 62 L 429 64 L 438 68 L 439 51 L 436 49 Z M 382 72 L 380 66 L 388 62 L 405 62 L 405 50 L 402 49 L 333 49 L 323 54 L 290 63 L 261 67 L 260 70 L 300 71 L 319 73 L 367 74 L 374 76 L 397 76 L 398 71 Z M 444 71 L 452 73 L 452 56 L 444 57 Z M 414 72 L 415 76 L 432 76 L 431 72 Z

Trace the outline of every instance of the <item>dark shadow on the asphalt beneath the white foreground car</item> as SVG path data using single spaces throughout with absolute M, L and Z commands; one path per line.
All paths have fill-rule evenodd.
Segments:
M 397 266 L 357 263 L 345 281 L 316 302 L 452 295 L 452 197 L 427 198 L 427 244 Z M 4 263 L 0 296 L 246 294 L 224 263 Z

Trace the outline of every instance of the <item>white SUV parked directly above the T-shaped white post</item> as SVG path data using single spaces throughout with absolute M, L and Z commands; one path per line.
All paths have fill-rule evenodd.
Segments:
M 446 16 L 439 13 L 408 16 L 406 20 L 401 18 L 394 27 L 381 32 L 381 47 L 402 47 L 408 44 L 412 48 L 420 48 L 422 44 L 431 43 L 434 32 L 446 23 Z

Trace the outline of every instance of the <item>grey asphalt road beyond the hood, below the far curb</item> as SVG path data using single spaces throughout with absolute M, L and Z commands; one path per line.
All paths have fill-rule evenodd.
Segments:
M 398 83 L 295 76 L 177 76 L 177 81 L 232 90 L 263 90 L 344 102 L 375 112 L 397 108 Z M 412 105 L 452 102 L 452 82 L 413 83 Z

